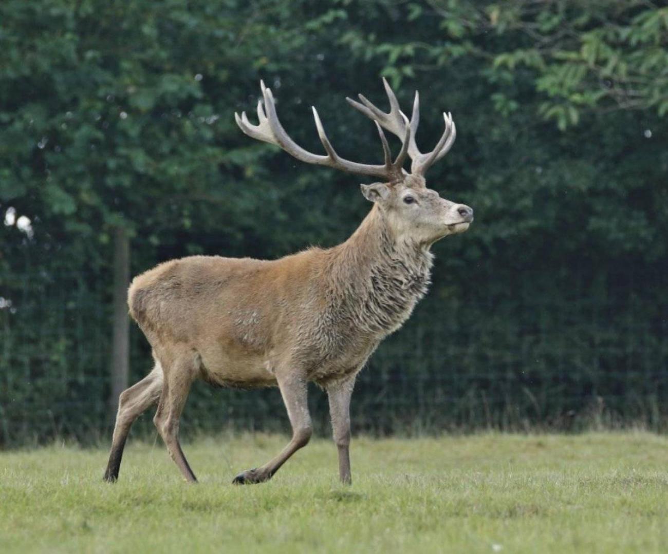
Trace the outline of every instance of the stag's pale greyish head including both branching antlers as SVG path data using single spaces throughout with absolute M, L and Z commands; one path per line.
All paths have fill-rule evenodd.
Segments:
M 452 115 L 443 114 L 445 129 L 440 140 L 434 150 L 422 154 L 415 144 L 415 132 L 420 122 L 420 95 L 415 91 L 413 113 L 409 120 L 399 108 L 397 97 L 384 78 L 383 84 L 390 105 L 387 113 L 378 109 L 361 94 L 359 95 L 361 103 L 346 98 L 355 109 L 367 115 L 375 123 L 383 146 L 385 160 L 382 165 L 359 164 L 341 158 L 329 142 L 315 107 L 313 107 L 313 118 L 327 155 L 313 154 L 301 148 L 283 129 L 276 113 L 271 89 L 265 87 L 262 81 L 263 97 L 257 104 L 259 124 L 251 124 L 245 111 L 240 116 L 235 112 L 234 118 L 246 135 L 280 146 L 297 160 L 379 178 L 379 182 L 361 185 L 362 194 L 367 200 L 376 204 L 388 228 L 401 240 L 429 246 L 444 236 L 466 231 L 473 221 L 472 208 L 440 198 L 438 192 L 427 188 L 424 178 L 427 170 L 443 158 L 454 144 L 457 131 Z M 394 160 L 383 129 L 401 140 L 401 151 Z M 410 173 L 403 168 L 406 158 L 411 159 Z

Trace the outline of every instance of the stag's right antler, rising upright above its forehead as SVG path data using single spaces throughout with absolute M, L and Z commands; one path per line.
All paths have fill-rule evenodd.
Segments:
M 355 109 L 361 111 L 376 123 L 380 123 L 384 129 L 397 135 L 400 139 L 403 140 L 403 137 L 409 135 L 408 156 L 413 160 L 413 163 L 411 164 L 411 173 L 424 176 L 434 162 L 438 162 L 438 160 L 448 154 L 448 150 L 452 148 L 452 145 L 455 142 L 457 129 L 452 120 L 452 115 L 450 115 L 450 113 L 443 113 L 446 129 L 443 131 L 440 140 L 436 144 L 436 148 L 434 148 L 432 152 L 422 154 L 422 152 L 418 150 L 417 144 L 415 144 L 415 133 L 418 131 L 418 123 L 420 123 L 420 95 L 418 94 L 418 91 L 415 91 L 413 114 L 411 115 L 411 120 L 408 121 L 408 118 L 403 114 L 401 109 L 399 109 L 397 97 L 394 95 L 394 92 L 385 80 L 385 77 L 383 77 L 383 85 L 385 85 L 385 92 L 387 92 L 387 98 L 389 99 L 390 109 L 388 113 L 378 109 L 361 94 L 359 95 L 359 99 L 362 103 L 359 103 L 352 98 L 346 98 L 346 100 Z M 409 127 L 409 131 L 407 131 L 406 127 Z

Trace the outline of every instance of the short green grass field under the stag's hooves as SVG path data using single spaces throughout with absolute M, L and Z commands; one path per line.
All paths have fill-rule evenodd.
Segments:
M 353 485 L 312 441 L 273 481 L 234 475 L 284 437 L 134 442 L 120 480 L 104 449 L 0 453 L 2 552 L 668 551 L 668 438 L 646 433 L 353 441 Z

